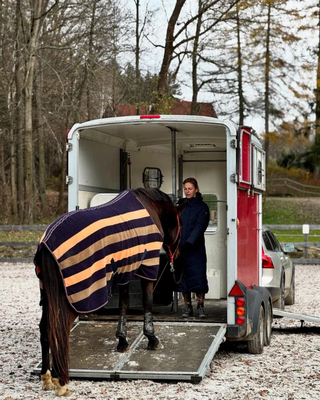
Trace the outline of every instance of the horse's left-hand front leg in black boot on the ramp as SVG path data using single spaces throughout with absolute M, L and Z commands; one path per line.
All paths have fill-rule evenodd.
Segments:
M 119 340 L 116 349 L 119 352 L 130 351 L 130 346 L 126 341 L 126 311 L 130 304 L 129 282 L 119 285 L 119 320 L 115 331 L 115 337 Z

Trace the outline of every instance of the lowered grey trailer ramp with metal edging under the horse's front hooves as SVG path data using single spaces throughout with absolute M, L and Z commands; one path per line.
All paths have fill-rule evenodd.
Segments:
M 131 351 L 118 353 L 117 323 L 80 321 L 70 334 L 70 376 L 104 379 L 167 379 L 197 382 L 223 341 L 225 324 L 154 322 L 161 350 L 147 350 L 142 322 L 127 322 Z M 186 346 L 186 343 L 189 343 Z M 41 361 L 33 368 L 39 374 Z

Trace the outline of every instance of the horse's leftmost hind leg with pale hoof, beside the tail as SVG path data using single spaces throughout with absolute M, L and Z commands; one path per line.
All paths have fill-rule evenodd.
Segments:
M 43 302 L 45 299 L 43 300 Z M 42 304 L 42 316 L 39 323 L 40 330 L 40 343 L 41 343 L 41 355 L 42 355 L 42 367 L 40 371 L 42 380 L 42 390 L 54 389 L 54 384 L 51 380 L 50 371 L 50 359 L 49 359 L 49 343 L 47 333 L 47 316 L 45 304 Z

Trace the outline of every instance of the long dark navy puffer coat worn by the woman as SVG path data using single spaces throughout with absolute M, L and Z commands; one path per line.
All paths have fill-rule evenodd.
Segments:
M 184 265 L 182 279 L 176 286 L 176 291 L 207 293 L 209 288 L 206 279 L 204 231 L 210 220 L 209 207 L 199 192 L 190 199 L 180 199 L 178 203 L 183 201 L 186 205 L 181 213 L 182 228 L 179 246 L 186 241 L 191 243 L 191 246 L 188 246 L 184 252 L 181 251 L 181 256 L 177 260 Z

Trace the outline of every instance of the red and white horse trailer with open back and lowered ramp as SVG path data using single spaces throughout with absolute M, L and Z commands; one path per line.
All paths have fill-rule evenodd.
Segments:
M 207 319 L 179 317 L 165 252 L 153 293 L 162 350 L 143 345 L 141 292 L 130 281 L 131 352 L 115 349 L 117 288 L 103 309 L 83 314 L 71 331 L 70 376 L 201 380 L 219 344 L 242 340 L 261 353 L 269 344 L 272 302 L 261 286 L 265 153 L 254 130 L 194 115 L 137 115 L 75 124 L 67 132 L 68 211 L 103 204 L 129 188 L 159 187 L 173 202 L 194 176 L 210 209 L 205 231 Z M 115 286 L 115 285 L 114 285 Z M 185 340 L 189 356 L 181 352 Z M 36 366 L 34 371 L 37 372 Z

